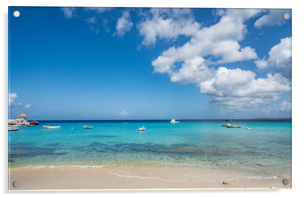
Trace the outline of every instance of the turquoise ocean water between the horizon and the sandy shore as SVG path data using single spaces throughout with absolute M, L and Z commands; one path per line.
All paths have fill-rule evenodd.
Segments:
M 9 132 L 9 166 L 186 165 L 291 177 L 291 121 L 41 121 Z M 42 125 L 61 126 L 43 129 Z M 93 129 L 83 129 L 83 125 Z M 136 132 L 145 126 L 144 132 Z M 252 129 L 247 130 L 250 126 Z

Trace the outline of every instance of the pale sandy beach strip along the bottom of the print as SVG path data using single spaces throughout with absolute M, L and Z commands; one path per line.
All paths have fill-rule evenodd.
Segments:
M 14 168 L 9 170 L 10 190 L 111 190 L 111 189 L 201 189 L 201 188 L 227 188 L 227 189 L 252 189 L 252 188 L 291 188 L 282 184 L 281 178 L 236 178 L 225 180 L 221 178 L 208 178 L 198 180 L 197 178 L 178 180 L 166 178 L 166 170 L 163 170 L 164 177 L 142 177 L 126 176 L 121 173 L 123 170 L 130 170 L 130 167 L 119 168 Z M 133 167 L 134 168 L 134 167 Z M 131 169 L 133 169 L 131 168 Z M 148 167 L 141 167 L 141 171 L 148 170 Z M 161 170 L 157 170 L 158 172 Z M 151 170 L 149 168 L 149 170 Z M 168 170 L 170 173 L 172 169 Z M 183 174 L 183 170 L 177 170 L 176 174 Z M 207 175 L 206 175 L 207 176 Z M 176 178 L 176 177 L 175 177 Z M 19 187 L 14 187 L 13 182 L 18 181 Z

